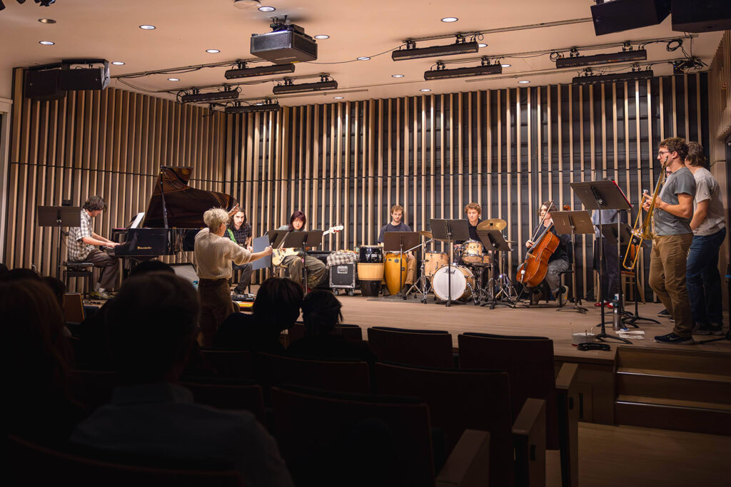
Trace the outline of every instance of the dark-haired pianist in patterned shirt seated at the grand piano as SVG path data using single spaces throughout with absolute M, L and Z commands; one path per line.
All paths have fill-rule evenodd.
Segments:
M 66 241 L 69 262 L 91 262 L 102 269 L 91 293 L 94 299 L 109 299 L 108 291 L 114 290 L 119 277 L 118 259 L 107 251 L 119 244 L 96 234 L 93 229 L 92 220 L 106 207 L 102 196 L 89 197 L 81 209 L 81 226 L 70 227 Z

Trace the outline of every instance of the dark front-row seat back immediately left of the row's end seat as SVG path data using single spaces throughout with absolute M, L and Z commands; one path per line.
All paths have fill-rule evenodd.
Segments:
M 447 369 L 455 367 L 449 331 L 373 326 L 368 329 L 368 345 L 382 362 Z

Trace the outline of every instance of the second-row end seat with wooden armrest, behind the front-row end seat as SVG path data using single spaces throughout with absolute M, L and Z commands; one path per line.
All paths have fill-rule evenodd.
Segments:
M 514 423 L 507 373 L 381 363 L 374 373 L 378 394 L 428 404 L 431 426 L 444 431 L 447 452 L 467 429 L 490 432 L 491 485 L 545 485 L 545 401 L 528 399 Z

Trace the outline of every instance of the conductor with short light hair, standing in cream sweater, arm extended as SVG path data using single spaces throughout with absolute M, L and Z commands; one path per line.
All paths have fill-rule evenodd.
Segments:
M 211 208 L 203 213 L 207 228 L 195 236 L 195 258 L 200 298 L 200 345 L 210 347 L 216 329 L 232 312 L 238 312 L 231 300 L 228 280 L 231 263 L 246 264 L 270 256 L 271 247 L 251 253 L 225 236 L 229 213 L 222 208 Z

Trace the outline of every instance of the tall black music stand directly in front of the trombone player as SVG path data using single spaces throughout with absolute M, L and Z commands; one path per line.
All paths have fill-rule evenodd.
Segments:
M 602 181 L 586 181 L 579 183 L 569 183 L 571 188 L 574 190 L 575 195 L 580 199 L 585 210 L 629 210 L 632 207 L 627 201 L 626 196 L 619 186 L 614 181 L 602 180 Z M 599 226 L 602 226 L 602 212 L 599 212 Z M 599 262 L 602 260 L 602 232 L 599 232 Z M 602 299 L 602 266 L 599 266 L 599 299 Z M 621 286 L 620 286 L 621 288 Z M 621 292 L 621 289 L 620 289 Z M 620 299 L 621 303 L 621 299 Z M 632 342 L 626 340 L 626 338 L 615 337 L 614 335 L 607 334 L 605 328 L 604 318 L 604 307 L 600 307 L 602 310 L 602 323 L 599 326 L 602 327 L 601 333 L 596 335 L 596 339 L 604 341 L 607 338 L 618 340 L 620 342 L 628 343 L 632 345 Z

